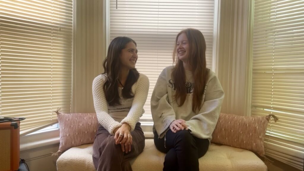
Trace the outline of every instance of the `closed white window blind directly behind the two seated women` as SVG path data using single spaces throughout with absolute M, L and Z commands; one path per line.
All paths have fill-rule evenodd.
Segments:
M 212 70 L 213 0 L 110 1 L 110 40 L 127 36 L 137 43 L 136 68 L 149 77 L 150 89 L 142 124 L 153 124 L 150 99 L 161 71 L 173 65 L 176 35 L 183 29 L 200 30 L 206 40 L 207 67 Z

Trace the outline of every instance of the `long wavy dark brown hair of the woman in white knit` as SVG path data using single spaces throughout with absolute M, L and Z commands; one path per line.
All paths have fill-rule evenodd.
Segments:
M 119 56 L 122 50 L 126 48 L 126 44 L 130 42 L 133 42 L 135 46 L 137 46 L 136 42 L 129 37 L 116 37 L 113 39 L 109 45 L 107 57 L 105 58 L 105 61 L 103 61 L 103 68 L 105 69 L 103 74 L 105 74 L 107 78 L 103 85 L 103 90 L 105 92 L 105 98 L 110 106 L 121 104 L 118 92 L 118 76 L 120 69 Z M 130 99 L 134 97 L 131 88 L 138 78 L 139 73 L 136 68 L 130 69 L 122 90 L 123 98 Z

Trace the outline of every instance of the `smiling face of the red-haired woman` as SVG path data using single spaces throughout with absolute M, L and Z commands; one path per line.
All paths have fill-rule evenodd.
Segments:
M 176 41 L 176 53 L 178 59 L 187 63 L 189 58 L 189 41 L 185 33 L 181 33 Z

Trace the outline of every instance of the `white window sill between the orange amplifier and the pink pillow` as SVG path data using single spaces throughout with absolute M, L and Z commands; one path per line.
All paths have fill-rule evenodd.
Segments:
M 40 148 L 48 145 L 59 144 L 59 129 L 40 132 L 20 137 L 20 152 Z

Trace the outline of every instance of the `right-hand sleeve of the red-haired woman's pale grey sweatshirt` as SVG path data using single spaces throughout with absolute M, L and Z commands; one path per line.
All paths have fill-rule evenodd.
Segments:
M 212 132 L 219 118 L 223 99 L 224 91 L 219 79 L 215 75 L 212 75 L 207 84 L 202 108 L 197 115 L 186 121 L 189 130 L 195 137 L 211 140 Z

